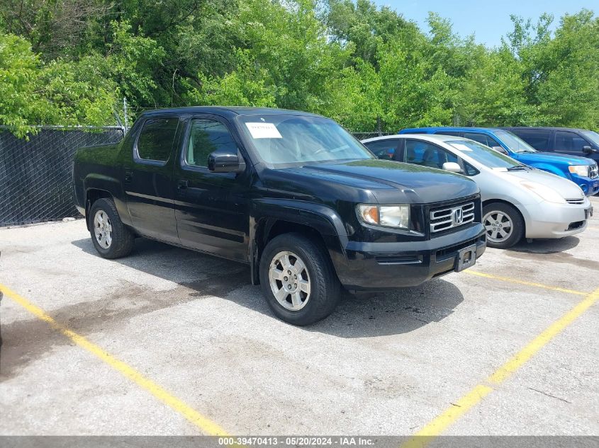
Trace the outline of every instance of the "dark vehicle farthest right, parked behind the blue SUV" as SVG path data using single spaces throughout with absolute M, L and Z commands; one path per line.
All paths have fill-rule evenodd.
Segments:
M 534 149 L 599 161 L 599 134 L 570 127 L 505 127 Z

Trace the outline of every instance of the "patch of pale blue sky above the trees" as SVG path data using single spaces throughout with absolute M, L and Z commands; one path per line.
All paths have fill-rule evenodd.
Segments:
M 500 45 L 501 37 L 512 30 L 510 14 L 532 18 L 536 23 L 542 13 L 551 13 L 554 29 L 564 13 L 577 13 L 582 8 L 599 13 L 596 0 L 374 0 L 374 3 L 390 6 L 405 18 L 416 21 L 422 30 L 427 30 L 428 11 L 434 11 L 449 18 L 454 31 L 461 36 L 474 33 L 476 42 L 491 47 Z

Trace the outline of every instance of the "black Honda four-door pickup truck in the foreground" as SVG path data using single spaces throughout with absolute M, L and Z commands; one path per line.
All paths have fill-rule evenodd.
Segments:
M 328 118 L 191 107 L 143 113 L 79 149 L 74 193 L 96 250 L 136 236 L 250 265 L 276 316 L 306 325 L 352 292 L 419 285 L 486 248 L 476 183 L 377 160 Z

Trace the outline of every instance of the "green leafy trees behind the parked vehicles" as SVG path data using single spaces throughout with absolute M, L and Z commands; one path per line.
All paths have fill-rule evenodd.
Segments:
M 349 129 L 599 127 L 599 18 L 513 16 L 499 47 L 369 0 L 0 0 L 0 124 L 179 105 L 309 110 Z

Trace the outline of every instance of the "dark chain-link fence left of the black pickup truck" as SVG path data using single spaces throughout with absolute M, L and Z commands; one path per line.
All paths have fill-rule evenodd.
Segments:
M 123 131 L 121 127 L 41 127 L 27 141 L 0 127 L 0 226 L 76 217 L 75 151 L 119 142 Z

